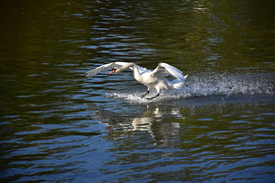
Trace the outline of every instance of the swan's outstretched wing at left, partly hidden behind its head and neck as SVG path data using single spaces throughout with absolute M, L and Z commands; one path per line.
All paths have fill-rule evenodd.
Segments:
M 102 72 L 102 71 L 108 71 L 113 69 L 115 66 L 124 66 L 125 64 L 128 64 L 128 62 L 111 62 L 109 64 L 104 64 L 102 66 L 98 66 L 96 69 L 93 69 L 89 72 L 87 72 L 86 77 L 93 77 L 94 75 L 97 75 L 98 73 Z M 130 69 L 133 70 L 133 68 L 130 67 Z M 140 74 L 149 71 L 141 66 L 137 65 L 137 69 L 140 71 Z

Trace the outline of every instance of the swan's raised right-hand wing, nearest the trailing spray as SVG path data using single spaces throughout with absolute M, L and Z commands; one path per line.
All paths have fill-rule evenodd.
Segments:
M 184 82 L 185 78 L 187 77 L 183 75 L 179 69 L 175 68 L 175 66 L 171 66 L 166 63 L 159 63 L 157 68 L 152 71 L 152 75 L 157 77 L 165 77 L 167 75 L 172 75 L 173 77 L 179 79 L 181 82 Z

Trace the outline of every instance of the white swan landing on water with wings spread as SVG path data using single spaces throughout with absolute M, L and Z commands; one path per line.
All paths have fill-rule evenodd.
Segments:
M 151 71 L 138 66 L 133 62 L 111 62 L 109 64 L 98 66 L 96 69 L 87 72 L 86 77 L 93 77 L 94 75 L 107 70 L 111 70 L 109 74 L 120 73 L 125 69 L 133 70 L 133 77 L 135 80 L 148 87 L 146 93 L 143 93 L 140 97 L 144 98 L 153 88 L 157 90 L 157 95 L 154 95 L 153 97 L 145 97 L 148 100 L 158 97 L 162 90 L 173 90 L 175 88 L 180 88 L 188 76 L 183 75 L 179 69 L 166 63 L 159 63 L 157 68 Z M 170 81 L 166 78 L 168 75 L 171 75 L 176 79 Z

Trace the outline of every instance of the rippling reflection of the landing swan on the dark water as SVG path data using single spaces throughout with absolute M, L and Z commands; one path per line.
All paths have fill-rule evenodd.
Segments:
M 158 106 L 148 104 L 146 110 L 140 114 L 133 114 L 126 117 L 118 112 L 111 112 L 96 106 L 94 103 L 87 103 L 88 110 L 94 112 L 96 117 L 107 124 L 108 134 L 111 139 L 124 136 L 121 132 L 144 132 L 144 136 L 151 136 L 157 145 L 169 144 L 172 139 L 178 139 L 180 124 L 177 122 L 166 121 L 168 117 L 185 119 L 181 115 L 179 108 L 171 106 Z M 93 116 L 94 116 L 93 115 Z M 139 133 L 141 134 L 141 133 Z

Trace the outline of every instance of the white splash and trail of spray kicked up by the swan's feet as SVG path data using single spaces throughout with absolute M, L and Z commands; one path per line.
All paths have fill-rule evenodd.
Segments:
M 142 99 L 140 95 L 146 91 L 144 87 L 115 90 L 108 97 L 126 99 L 140 103 L 203 97 L 211 95 L 274 95 L 274 75 L 270 73 L 206 73 L 191 75 L 184 86 L 177 90 L 165 91 L 153 100 Z M 150 93 L 155 95 L 155 91 Z M 151 95 L 148 95 L 151 96 Z

